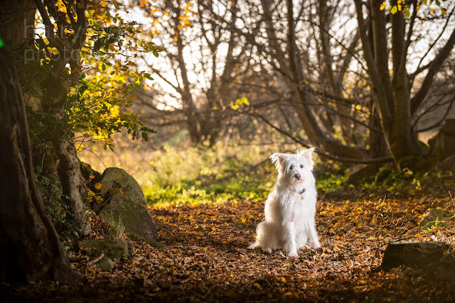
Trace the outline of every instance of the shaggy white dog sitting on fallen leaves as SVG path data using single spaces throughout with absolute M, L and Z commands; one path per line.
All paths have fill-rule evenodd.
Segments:
M 295 155 L 274 153 L 270 156 L 277 166 L 278 180 L 265 202 L 265 220 L 257 226 L 256 242 L 267 253 L 283 248 L 291 257 L 306 245 L 319 248 L 314 224 L 316 214 L 316 181 L 313 177 L 314 148 L 297 151 Z

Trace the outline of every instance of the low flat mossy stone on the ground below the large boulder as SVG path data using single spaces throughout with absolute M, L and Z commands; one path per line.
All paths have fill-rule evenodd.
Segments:
M 102 253 L 112 259 L 128 256 L 128 245 L 125 241 L 110 239 L 82 240 L 79 246 L 82 254 L 89 257 L 99 257 Z

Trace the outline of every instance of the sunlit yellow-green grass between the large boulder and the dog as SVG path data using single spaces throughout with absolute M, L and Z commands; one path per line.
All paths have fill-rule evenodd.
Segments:
M 105 169 L 102 162 L 123 168 L 139 182 L 148 204 L 167 206 L 265 199 L 277 176 L 269 155 L 287 149 L 296 148 L 220 142 L 210 148 L 165 143 L 151 150 L 139 142 L 114 153 L 95 148 L 96 156 L 79 156 L 99 172 Z

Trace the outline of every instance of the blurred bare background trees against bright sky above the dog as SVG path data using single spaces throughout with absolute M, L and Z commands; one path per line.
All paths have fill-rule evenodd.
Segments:
M 161 18 L 153 31 L 164 48 L 164 60 L 147 62 L 161 80 L 139 94 L 143 116 L 186 128 L 193 143 L 213 144 L 235 128 L 240 138 L 246 115 L 258 121 L 252 133 L 267 126 L 333 159 L 420 156 L 419 134 L 436 132 L 453 103 L 444 70 L 454 7 L 444 4 L 443 15 L 412 2 L 407 18 L 381 4 L 138 1 L 151 20 Z M 242 97 L 249 105 L 235 106 Z M 428 123 L 431 112 L 439 119 Z

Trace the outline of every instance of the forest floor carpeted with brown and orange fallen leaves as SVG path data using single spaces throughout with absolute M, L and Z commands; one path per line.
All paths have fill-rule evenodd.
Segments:
M 429 233 L 418 225 L 433 207 L 454 214 L 454 188 L 446 176 L 414 195 L 353 188 L 326 194 L 316 213 L 322 248 L 300 250 L 298 258 L 247 249 L 264 202 L 151 207 L 167 248 L 135 242 L 134 254 L 113 272 L 70 250 L 79 281 L 1 285 L 0 294 L 7 302 L 455 302 L 453 250 L 436 264 L 380 268 L 390 241 L 455 243 L 454 224 Z M 92 238 L 104 237 L 103 223 L 94 224 Z

